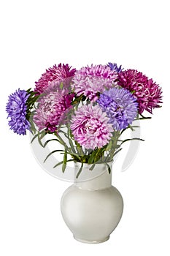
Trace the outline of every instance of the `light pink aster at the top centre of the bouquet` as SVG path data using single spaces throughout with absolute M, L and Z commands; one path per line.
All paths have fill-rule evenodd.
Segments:
M 98 99 L 98 92 L 112 88 L 117 79 L 117 72 L 108 66 L 93 64 L 90 67 L 82 67 L 72 79 L 72 88 L 77 96 L 84 94 L 91 101 Z

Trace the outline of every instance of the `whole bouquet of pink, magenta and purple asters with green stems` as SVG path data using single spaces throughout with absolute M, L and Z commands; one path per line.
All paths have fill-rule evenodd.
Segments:
M 135 69 L 117 64 L 91 65 L 80 70 L 58 64 L 46 70 L 34 89 L 18 89 L 9 96 L 9 127 L 18 135 L 31 131 L 45 147 L 51 140 L 61 143 L 63 172 L 69 161 L 91 165 L 112 161 L 122 144 L 125 129 L 135 129 L 133 121 L 144 119 L 162 103 L 162 91 L 152 79 Z M 54 138 L 42 144 L 42 138 Z M 134 138 L 139 139 L 140 138 Z M 46 159 L 50 157 L 47 155 Z M 45 159 L 45 160 L 46 160 Z

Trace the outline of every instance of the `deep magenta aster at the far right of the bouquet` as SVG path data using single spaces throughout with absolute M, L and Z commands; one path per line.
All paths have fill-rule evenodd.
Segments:
M 142 72 L 134 69 L 122 71 L 118 74 L 117 83 L 128 91 L 133 91 L 134 96 L 137 97 L 140 114 L 144 110 L 152 113 L 153 108 L 160 107 L 159 103 L 162 103 L 161 87 Z

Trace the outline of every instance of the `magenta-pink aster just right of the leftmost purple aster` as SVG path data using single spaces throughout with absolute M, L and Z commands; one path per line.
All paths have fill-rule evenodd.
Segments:
M 59 122 L 63 121 L 63 114 L 71 107 L 73 97 L 74 94 L 69 94 L 66 89 L 43 94 L 34 114 L 34 122 L 39 130 L 55 132 Z

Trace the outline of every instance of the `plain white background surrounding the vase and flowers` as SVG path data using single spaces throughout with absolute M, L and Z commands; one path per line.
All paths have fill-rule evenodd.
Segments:
M 169 255 L 169 1 L 1 1 L 0 255 Z M 34 88 L 45 69 L 108 61 L 138 69 L 163 89 L 163 108 L 142 121 L 134 163 L 113 169 L 123 217 L 109 241 L 82 244 L 61 217 L 70 185 L 38 165 L 28 136 L 13 134 L 5 106 L 15 89 Z

